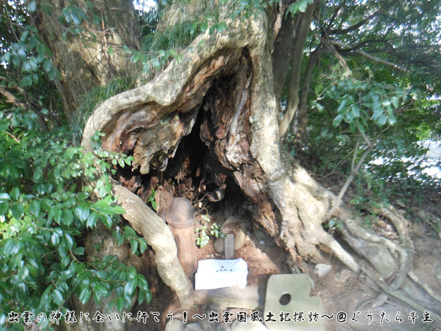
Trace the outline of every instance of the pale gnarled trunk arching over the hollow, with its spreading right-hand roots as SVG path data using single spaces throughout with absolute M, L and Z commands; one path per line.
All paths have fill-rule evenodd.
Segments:
M 252 201 L 249 211 L 254 222 L 286 248 L 300 267 L 303 260 L 322 261 L 320 247 L 326 246 L 351 270 L 363 270 L 385 292 L 396 293 L 411 265 L 411 254 L 406 252 L 411 243 L 400 226 L 402 220 L 396 219 L 404 239 L 398 245 L 365 228 L 347 205 L 341 204 L 334 212 L 344 224 L 342 236 L 373 265 L 378 277 L 322 228 L 335 195 L 280 148 L 269 32 L 272 20 L 263 12 L 249 20 L 232 20 L 228 8 L 219 10 L 225 14 L 220 20 L 227 22 L 226 32 L 201 34 L 183 50 L 179 62 L 172 61 L 153 81 L 96 108 L 85 126 L 83 145 L 90 148 L 95 130 L 105 132 L 103 146 L 132 154 L 133 168 L 147 174 L 166 165 L 181 139 L 195 123 L 201 123 L 200 138 L 222 166 L 222 174 Z M 131 203 L 130 199 L 119 201 Z M 392 251 L 400 255 L 400 265 L 394 263 Z M 398 280 L 382 281 L 381 277 L 397 270 Z

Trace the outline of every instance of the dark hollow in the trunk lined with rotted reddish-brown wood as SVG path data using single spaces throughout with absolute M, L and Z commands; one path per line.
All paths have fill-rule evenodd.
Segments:
M 250 152 L 252 79 L 247 48 L 220 50 L 170 106 L 149 102 L 114 117 L 103 146 L 135 159 L 132 169 L 119 168 L 117 179 L 145 202 L 158 185 L 196 203 L 227 197 L 237 205 L 245 194 L 247 211 L 276 235 L 275 208 Z

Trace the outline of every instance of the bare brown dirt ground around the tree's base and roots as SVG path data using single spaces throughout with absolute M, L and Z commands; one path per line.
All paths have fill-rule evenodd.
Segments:
M 228 216 L 228 212 L 214 212 L 212 219 L 222 224 Z M 260 298 L 265 298 L 266 283 L 269 276 L 271 274 L 291 273 L 291 270 L 287 263 L 285 251 L 271 244 L 271 241 L 266 240 L 265 234 L 256 228 L 253 229 L 251 223 L 248 229 L 245 244 L 242 248 L 236 250 L 235 258 L 240 257 L 247 262 L 249 270 L 247 286 L 258 285 Z M 441 279 L 438 280 L 436 277 L 436 274 L 438 274 L 438 278 L 441 278 L 440 239 L 425 223 L 413 225 L 411 233 L 413 234 L 415 245 L 413 271 L 422 281 L 427 282 L 435 292 L 441 293 Z M 207 246 L 198 249 L 198 260 L 202 259 L 224 259 L 224 254 L 216 252 L 214 240 L 211 240 Z M 371 302 L 378 296 L 376 286 L 361 275 L 354 274 L 348 270 L 345 265 L 342 265 L 333 257 L 327 256 L 326 259 L 332 268 L 325 276 L 318 277 L 314 272 L 314 265 L 309 265 L 311 270 L 310 276 L 315 283 L 311 296 L 320 297 L 327 315 L 334 315 L 329 320 L 325 317 L 326 330 L 441 331 L 441 325 L 437 325 L 435 321 L 422 323 L 422 312 L 415 311 L 411 306 L 398 299 L 389 297 L 387 303 L 373 308 Z M 170 288 L 163 285 L 160 280 L 150 286 L 154 293 L 152 302 L 147 307 L 144 305 L 134 308 L 134 317 L 136 317 L 137 310 L 143 310 L 149 314 L 159 312 L 161 321 L 155 322 L 150 317 L 150 319 L 147 319 L 147 324 L 135 323 L 134 328 L 131 328 L 131 330 L 164 330 L 165 323 L 169 321 L 167 314 L 173 314 L 174 319 L 181 319 L 187 323 L 192 323 L 198 322 L 197 319 L 192 319 L 194 314 L 207 314 L 209 311 L 215 311 L 218 312 L 219 316 L 222 316 L 225 310 L 229 310 L 234 314 L 236 311 L 240 311 L 240 309 L 228 309 L 227 307 L 194 305 L 192 310 L 187 310 L 187 314 L 184 315 L 183 311 L 180 310 L 176 296 Z M 418 285 L 407 281 L 404 291 L 410 290 L 422 292 L 421 289 L 418 289 Z M 440 314 L 441 303 L 435 302 L 434 299 L 433 301 L 427 301 L 424 297 L 427 296 L 421 295 L 419 303 L 427 310 L 433 310 Z M 251 312 L 251 310 L 248 310 L 248 312 Z M 409 317 L 415 316 L 413 312 L 418 316 L 415 323 L 412 323 L 411 319 L 409 319 Z M 261 317 L 263 317 L 263 314 L 263 310 L 260 311 Z M 345 314 L 347 316 L 346 321 L 344 323 L 338 322 L 338 317 L 343 318 Z M 358 323 L 352 321 L 351 319 L 353 318 L 358 320 Z M 399 322 L 400 319 L 402 319 L 402 322 Z M 214 328 L 214 325 L 212 325 L 212 328 Z

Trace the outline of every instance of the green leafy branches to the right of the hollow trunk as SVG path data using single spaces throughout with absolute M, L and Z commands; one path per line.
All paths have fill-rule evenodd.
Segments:
M 320 52 L 309 86 L 307 134 L 295 147 L 294 134 L 287 137 L 287 150 L 294 156 L 301 147 L 314 170 L 345 178 L 367 149 L 365 135 L 374 148 L 352 185 L 353 203 L 360 205 L 439 188 L 440 180 L 424 173 L 429 164 L 422 141 L 441 137 L 441 2 L 317 6 L 302 66 L 304 74 L 311 52 Z

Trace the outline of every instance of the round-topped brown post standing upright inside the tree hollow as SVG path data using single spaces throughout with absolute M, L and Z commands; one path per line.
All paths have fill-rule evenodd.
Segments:
M 198 268 L 192 203 L 185 198 L 174 198 L 167 210 L 166 221 L 176 241 L 179 262 L 187 277 L 192 278 Z

